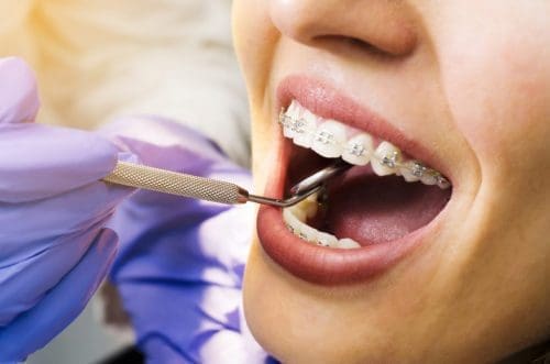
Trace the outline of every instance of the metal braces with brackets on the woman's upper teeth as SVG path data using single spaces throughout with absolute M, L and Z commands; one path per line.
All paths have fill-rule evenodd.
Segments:
M 278 117 L 278 123 L 282 126 L 287 128 L 297 134 L 302 134 L 302 135 L 308 134 L 308 131 L 305 128 L 306 121 L 301 118 L 297 119 L 287 115 L 284 112 L 284 110 L 280 110 Z M 334 135 L 326 130 L 316 131 L 311 136 L 315 141 L 326 145 L 337 144 Z M 344 147 L 346 148 L 348 152 L 359 157 L 363 156 L 366 153 L 366 147 L 361 143 L 353 143 L 351 145 L 346 144 Z M 399 162 L 398 157 L 399 154 L 397 152 L 393 152 L 391 154 L 384 155 L 382 158 L 376 155 L 372 155 L 371 159 L 376 159 L 385 167 L 394 169 L 396 175 L 402 175 L 403 170 L 406 169 L 413 176 L 421 179 L 424 183 L 427 183 L 429 185 L 438 185 L 442 189 L 451 186 L 449 179 L 447 179 L 443 175 L 441 175 L 441 173 L 437 172 L 436 169 L 429 168 L 420 162 L 414 162 L 413 166 L 408 166 Z

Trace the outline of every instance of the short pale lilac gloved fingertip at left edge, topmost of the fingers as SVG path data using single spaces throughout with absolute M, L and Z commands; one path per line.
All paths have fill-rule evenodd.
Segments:
M 34 121 L 40 101 L 33 71 L 20 58 L 0 59 L 0 124 Z

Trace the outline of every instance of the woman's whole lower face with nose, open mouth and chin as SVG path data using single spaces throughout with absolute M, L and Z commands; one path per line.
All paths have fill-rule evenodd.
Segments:
M 244 286 L 257 341 L 288 363 L 473 363 L 547 340 L 550 2 L 233 12 L 255 190 L 354 164 L 319 203 L 260 209 Z

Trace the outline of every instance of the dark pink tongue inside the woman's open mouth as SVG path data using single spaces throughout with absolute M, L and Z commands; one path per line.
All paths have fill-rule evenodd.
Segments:
M 355 172 L 355 173 L 354 173 Z M 451 189 L 403 177 L 378 177 L 353 168 L 330 188 L 327 227 L 337 238 L 361 245 L 394 241 L 426 225 L 449 201 Z

